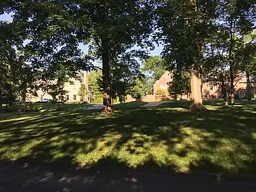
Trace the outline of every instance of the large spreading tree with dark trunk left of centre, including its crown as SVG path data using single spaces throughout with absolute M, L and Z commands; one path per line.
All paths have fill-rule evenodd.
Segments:
M 131 49 L 134 44 L 152 45 L 146 40 L 152 31 L 151 2 L 5 1 L 0 13 L 13 11 L 13 26 L 24 39 L 30 38 L 26 49 L 39 68 L 46 68 L 47 63 L 63 63 L 66 70 L 75 75 L 79 69 L 95 69 L 88 59 L 101 59 L 103 110 L 110 112 L 110 58 Z M 89 45 L 90 58 L 81 57 L 77 49 L 79 43 Z

